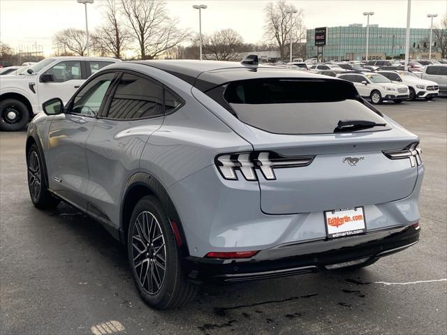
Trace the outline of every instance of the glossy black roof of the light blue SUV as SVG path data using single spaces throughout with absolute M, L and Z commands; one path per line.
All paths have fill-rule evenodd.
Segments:
M 299 77 L 323 79 L 316 73 L 308 73 L 291 68 L 260 64 L 244 66 L 236 61 L 198 61 L 186 59 L 129 61 L 124 63 L 142 64 L 166 71 L 188 82 L 200 91 L 207 91 L 235 80 L 259 79 L 268 77 Z M 112 65 L 113 66 L 113 65 Z M 110 68 L 110 67 L 109 67 Z

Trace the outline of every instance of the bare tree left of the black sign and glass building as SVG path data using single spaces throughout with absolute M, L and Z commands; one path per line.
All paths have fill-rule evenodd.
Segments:
M 302 9 L 292 16 L 287 13 L 291 10 L 297 9 L 293 5 L 288 5 L 284 0 L 276 3 L 270 2 L 264 8 L 266 20 L 264 36 L 268 43 L 279 48 L 281 58 L 286 58 L 286 54 L 290 52 L 291 36 L 292 43 L 300 43 L 305 38 Z

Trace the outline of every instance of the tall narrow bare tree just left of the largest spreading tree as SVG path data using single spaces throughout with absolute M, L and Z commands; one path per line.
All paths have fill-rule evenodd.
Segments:
M 110 54 L 119 59 L 122 58 L 124 50 L 129 48 L 132 40 L 131 31 L 122 23 L 120 10 L 120 4 L 115 0 L 105 1 L 104 23 L 94 34 L 96 54 Z

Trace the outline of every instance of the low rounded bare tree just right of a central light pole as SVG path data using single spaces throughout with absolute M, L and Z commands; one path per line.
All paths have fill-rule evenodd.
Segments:
M 233 29 L 221 29 L 203 38 L 205 59 L 230 61 L 237 55 L 237 48 L 244 43 L 242 36 Z

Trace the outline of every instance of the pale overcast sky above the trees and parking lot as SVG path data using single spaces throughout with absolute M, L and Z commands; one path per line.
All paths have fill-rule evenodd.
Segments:
M 89 29 L 101 24 L 101 0 L 88 6 Z M 261 0 L 168 0 L 170 14 L 179 25 L 198 31 L 198 10 L 192 5 L 208 6 L 202 14 L 202 31 L 233 28 L 245 42 L 263 40 L 263 8 L 270 1 Z M 381 27 L 406 27 L 406 0 L 312 0 L 288 1 L 304 10 L 307 29 L 333 27 L 351 23 L 366 24 L 364 11 L 374 11 L 370 24 Z M 411 28 L 430 28 L 428 13 L 437 13 L 438 22 L 447 13 L 445 0 L 412 0 Z M 43 45 L 45 55 L 52 53 L 52 36 L 61 29 L 85 29 L 84 5 L 76 0 L 0 0 L 0 40 L 11 47 Z

